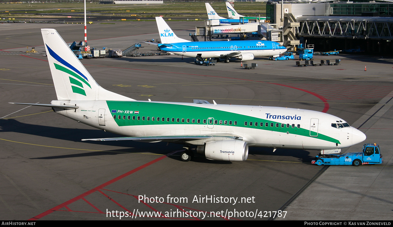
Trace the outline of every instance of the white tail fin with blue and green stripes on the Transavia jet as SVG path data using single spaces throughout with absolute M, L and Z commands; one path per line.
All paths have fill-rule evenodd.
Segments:
M 41 29 L 58 100 L 134 100 L 95 82 L 55 29 Z

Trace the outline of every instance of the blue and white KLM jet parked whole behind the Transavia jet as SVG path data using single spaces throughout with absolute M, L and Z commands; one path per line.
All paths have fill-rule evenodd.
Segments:
M 190 42 L 178 38 L 162 17 L 156 17 L 156 22 L 161 44 L 155 45 L 158 45 L 160 50 L 177 55 L 187 57 L 200 55 L 202 58 L 214 58 L 217 62 L 221 58 L 228 63 L 231 58 L 248 61 L 253 60 L 255 56 L 268 57 L 286 51 L 286 48 L 279 43 L 266 40 Z

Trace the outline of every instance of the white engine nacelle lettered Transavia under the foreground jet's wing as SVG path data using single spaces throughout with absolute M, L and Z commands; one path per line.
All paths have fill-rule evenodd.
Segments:
M 198 146 L 196 151 L 212 160 L 245 161 L 248 144 L 242 140 L 215 140 Z

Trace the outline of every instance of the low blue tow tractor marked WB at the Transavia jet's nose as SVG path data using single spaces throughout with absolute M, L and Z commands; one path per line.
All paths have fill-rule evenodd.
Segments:
M 383 162 L 379 145 L 376 143 L 365 143 L 362 152 L 345 154 L 318 154 L 312 164 L 316 165 L 369 165 L 381 164 Z

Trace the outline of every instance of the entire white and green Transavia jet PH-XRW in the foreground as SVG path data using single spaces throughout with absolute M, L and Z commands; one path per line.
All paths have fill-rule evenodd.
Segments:
M 248 146 L 325 150 L 349 147 L 365 135 L 330 114 L 304 109 L 247 105 L 137 101 L 94 81 L 55 29 L 41 29 L 57 100 L 55 113 L 125 137 L 84 140 L 173 142 L 212 160 L 244 161 Z

